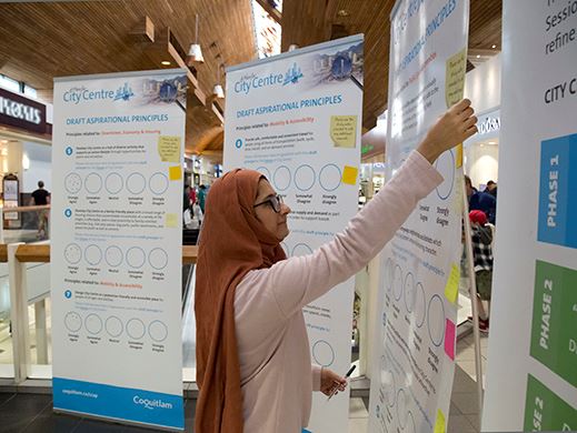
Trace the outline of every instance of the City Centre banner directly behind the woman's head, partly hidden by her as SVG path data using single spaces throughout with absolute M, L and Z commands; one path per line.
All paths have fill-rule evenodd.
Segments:
M 287 256 L 310 254 L 357 212 L 362 124 L 362 36 L 227 71 L 225 170 L 255 169 L 292 209 Z M 354 280 L 304 309 L 311 361 L 350 365 Z M 348 393 L 315 393 L 311 432 L 348 431 Z

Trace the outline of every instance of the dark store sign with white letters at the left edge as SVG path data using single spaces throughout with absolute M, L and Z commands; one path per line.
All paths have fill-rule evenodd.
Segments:
M 0 124 L 46 132 L 46 105 L 0 89 Z

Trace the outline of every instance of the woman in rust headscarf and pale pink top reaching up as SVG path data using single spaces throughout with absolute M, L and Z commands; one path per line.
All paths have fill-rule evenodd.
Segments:
M 447 111 L 347 229 L 306 256 L 286 258 L 290 209 L 263 175 L 233 170 L 215 182 L 195 294 L 198 433 L 300 433 L 311 391 L 344 389 L 311 365 L 301 309 L 365 266 L 442 181 L 431 163 L 477 131 L 469 105 Z

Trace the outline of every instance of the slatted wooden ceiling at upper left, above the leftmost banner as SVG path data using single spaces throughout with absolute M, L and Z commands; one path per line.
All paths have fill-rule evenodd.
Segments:
M 50 101 L 54 77 L 175 68 L 173 61 L 169 67 L 155 62 L 147 56 L 152 42 L 130 33 L 149 17 L 157 39 L 168 27 L 181 49 L 188 51 L 195 39 L 196 13 L 200 17 L 199 42 L 205 56 L 205 63 L 197 67 L 197 79 L 199 89 L 210 97 L 218 64 L 237 64 L 256 56 L 248 0 L 3 3 L 0 73 L 24 81 Z M 167 56 L 166 60 L 171 59 Z M 206 107 L 189 110 L 187 151 L 222 147 L 221 120 L 212 110 L 210 99 Z

